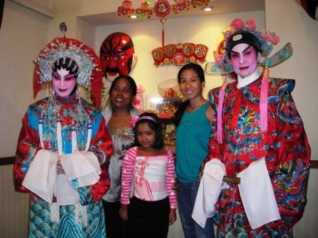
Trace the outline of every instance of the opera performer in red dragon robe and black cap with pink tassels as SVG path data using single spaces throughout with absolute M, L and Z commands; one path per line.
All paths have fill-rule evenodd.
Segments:
M 292 99 L 295 80 L 268 77 L 292 49 L 266 58 L 279 38 L 253 19 L 232 22 L 215 69 L 237 81 L 209 92 L 215 111 L 199 195 L 192 217 L 216 219 L 217 237 L 292 237 L 306 205 L 310 147 Z M 213 71 L 213 70 L 212 70 Z

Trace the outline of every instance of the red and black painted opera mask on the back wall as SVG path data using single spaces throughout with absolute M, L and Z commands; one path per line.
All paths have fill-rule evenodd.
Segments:
M 127 76 L 133 64 L 133 41 L 125 33 L 111 33 L 102 42 L 99 56 L 104 77 Z

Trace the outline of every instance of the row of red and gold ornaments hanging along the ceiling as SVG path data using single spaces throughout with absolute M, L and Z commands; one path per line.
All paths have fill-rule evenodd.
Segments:
M 118 16 L 131 16 L 136 14 L 138 18 L 150 18 L 155 12 L 155 15 L 160 18 L 165 18 L 170 14 L 170 10 L 175 13 L 180 13 L 184 10 L 190 10 L 190 7 L 196 8 L 197 6 L 207 6 L 210 0 L 174 0 L 174 4 L 170 4 L 167 0 L 155 1 L 153 8 L 150 1 L 141 1 L 140 7 L 133 8 L 132 0 L 124 0 L 121 6 L 118 7 Z

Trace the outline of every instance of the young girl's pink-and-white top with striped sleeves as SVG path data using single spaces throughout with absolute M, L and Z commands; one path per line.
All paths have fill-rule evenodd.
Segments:
M 137 156 L 138 147 L 128 149 L 121 168 L 121 204 L 135 196 L 141 200 L 162 200 L 169 196 L 170 208 L 177 208 L 175 159 L 170 150 L 156 156 Z

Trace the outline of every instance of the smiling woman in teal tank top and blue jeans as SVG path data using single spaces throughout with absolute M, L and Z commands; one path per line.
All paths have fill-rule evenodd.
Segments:
M 194 201 L 199 188 L 199 168 L 208 154 L 213 111 L 202 96 L 204 71 L 199 64 L 185 64 L 177 74 L 182 94 L 187 98 L 175 113 L 177 125 L 176 166 L 177 200 L 185 238 L 214 238 L 213 220 L 204 227 L 192 219 Z

